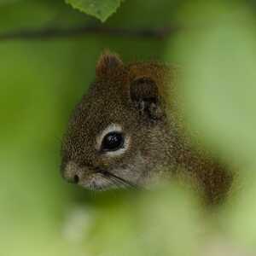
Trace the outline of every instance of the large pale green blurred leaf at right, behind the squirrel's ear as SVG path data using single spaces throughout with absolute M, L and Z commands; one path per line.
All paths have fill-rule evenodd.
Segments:
M 204 27 L 182 33 L 170 53 L 184 67 L 180 94 L 188 130 L 194 127 L 231 164 L 254 162 L 255 22 L 243 8 L 214 11 Z

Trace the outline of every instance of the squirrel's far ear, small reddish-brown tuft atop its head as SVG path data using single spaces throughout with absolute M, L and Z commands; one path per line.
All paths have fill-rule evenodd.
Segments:
M 110 53 L 108 50 L 103 52 L 96 65 L 96 76 L 112 73 L 118 67 L 123 67 L 123 61 L 120 60 L 119 55 Z

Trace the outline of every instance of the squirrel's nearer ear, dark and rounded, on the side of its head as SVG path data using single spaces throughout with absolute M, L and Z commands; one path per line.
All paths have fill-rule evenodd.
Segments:
M 131 82 L 131 101 L 136 108 L 149 119 L 161 119 L 163 109 L 161 109 L 160 95 L 157 84 L 153 79 L 142 77 Z

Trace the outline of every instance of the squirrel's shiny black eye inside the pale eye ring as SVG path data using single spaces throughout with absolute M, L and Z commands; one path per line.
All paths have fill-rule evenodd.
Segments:
M 102 150 L 115 151 L 124 146 L 124 136 L 120 132 L 109 132 L 102 140 Z

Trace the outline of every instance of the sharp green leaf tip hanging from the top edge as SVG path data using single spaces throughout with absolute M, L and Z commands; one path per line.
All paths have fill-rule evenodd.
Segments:
M 104 22 L 119 8 L 123 0 L 66 0 L 73 8 L 79 9 L 87 15 L 92 15 Z

